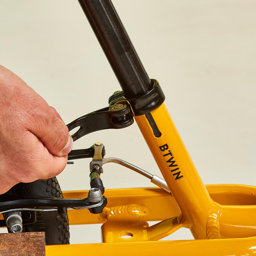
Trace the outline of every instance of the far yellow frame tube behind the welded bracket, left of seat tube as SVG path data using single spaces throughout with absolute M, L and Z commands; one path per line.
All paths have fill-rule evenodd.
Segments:
M 86 191 L 63 192 L 64 197 L 81 198 L 88 195 Z M 136 204 L 147 208 L 146 221 L 157 221 L 180 215 L 180 209 L 174 198 L 161 188 L 123 188 L 106 189 L 104 196 L 108 198 L 108 208 Z M 161 211 L 159 211 L 161 207 Z M 88 210 L 68 210 L 69 223 L 96 224 L 104 223 L 102 214 L 91 214 Z

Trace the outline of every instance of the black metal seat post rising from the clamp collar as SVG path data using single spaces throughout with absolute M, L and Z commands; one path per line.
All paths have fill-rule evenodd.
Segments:
M 127 98 L 153 85 L 110 0 L 78 0 Z M 128 3 L 128 2 L 127 2 Z

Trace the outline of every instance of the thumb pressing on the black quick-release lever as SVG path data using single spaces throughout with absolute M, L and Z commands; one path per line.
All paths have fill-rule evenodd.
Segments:
M 68 133 L 68 127 L 63 122 L 55 108 L 44 109 L 45 113 L 38 113 L 35 125 L 30 131 L 41 140 L 48 151 L 55 156 L 67 155 L 73 147 L 73 139 Z

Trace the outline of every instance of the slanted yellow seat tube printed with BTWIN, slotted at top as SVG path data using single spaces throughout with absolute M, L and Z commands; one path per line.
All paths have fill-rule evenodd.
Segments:
M 209 196 L 165 105 L 153 110 L 151 115 L 161 132 L 158 138 L 145 115 L 136 116 L 135 120 L 180 207 L 183 220 L 190 223 L 196 239 L 221 238 L 218 222 L 221 206 Z

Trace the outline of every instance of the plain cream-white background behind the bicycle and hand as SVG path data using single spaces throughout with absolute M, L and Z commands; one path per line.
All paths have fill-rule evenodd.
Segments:
M 113 2 L 204 183 L 255 185 L 255 1 Z M 1 1 L 0 64 L 66 123 L 106 107 L 120 89 L 76 1 Z M 136 124 L 89 134 L 74 149 L 97 141 L 106 156 L 161 175 Z M 89 188 L 89 162 L 66 167 L 58 177 L 62 190 Z M 106 189 L 154 186 L 115 164 L 106 165 L 102 179 Z M 100 242 L 100 225 L 70 230 L 71 243 Z M 171 237 L 181 238 L 191 236 L 181 230 Z

